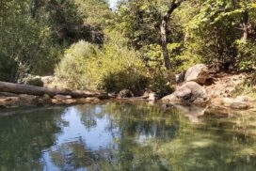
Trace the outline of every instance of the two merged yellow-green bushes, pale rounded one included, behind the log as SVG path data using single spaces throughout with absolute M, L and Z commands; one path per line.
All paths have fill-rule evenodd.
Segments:
M 71 88 L 107 92 L 126 88 L 140 93 L 149 83 L 142 60 L 119 34 L 108 34 L 112 35 L 101 51 L 86 41 L 73 44 L 56 68 L 56 76 Z

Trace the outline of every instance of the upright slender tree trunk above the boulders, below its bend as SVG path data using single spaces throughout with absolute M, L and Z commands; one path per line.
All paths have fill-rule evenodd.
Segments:
M 162 53 L 164 56 L 164 60 L 165 60 L 165 67 L 167 68 L 167 70 L 170 70 L 171 66 L 170 66 L 170 60 L 169 60 L 169 55 L 168 55 L 168 42 L 167 42 L 167 19 L 163 19 L 161 26 L 161 43 L 162 43 Z

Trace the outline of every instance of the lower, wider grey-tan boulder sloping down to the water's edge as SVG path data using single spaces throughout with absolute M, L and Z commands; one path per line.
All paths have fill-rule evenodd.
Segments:
M 186 82 L 177 88 L 171 95 L 162 99 L 163 102 L 170 103 L 195 103 L 205 104 L 208 101 L 206 90 L 196 82 Z

